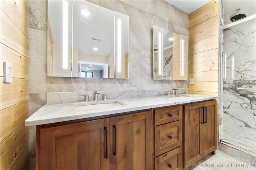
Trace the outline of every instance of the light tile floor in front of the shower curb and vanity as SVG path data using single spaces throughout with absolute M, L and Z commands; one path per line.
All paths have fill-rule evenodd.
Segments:
M 243 162 L 238 158 L 230 156 L 220 150 L 216 150 L 216 154 L 209 154 L 194 163 L 186 170 L 256 170 L 256 164 Z

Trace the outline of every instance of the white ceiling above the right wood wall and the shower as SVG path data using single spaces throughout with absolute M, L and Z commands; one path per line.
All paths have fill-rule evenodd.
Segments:
M 180 10 L 190 14 L 198 8 L 204 6 L 211 0 L 165 0 L 176 6 Z M 230 16 L 240 8 L 247 16 L 256 14 L 256 0 L 223 0 L 224 6 L 224 25 L 232 23 Z

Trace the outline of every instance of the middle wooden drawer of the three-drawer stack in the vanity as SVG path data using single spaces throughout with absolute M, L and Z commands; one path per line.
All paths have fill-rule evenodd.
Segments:
M 182 145 L 182 121 L 154 127 L 154 155 L 158 156 Z

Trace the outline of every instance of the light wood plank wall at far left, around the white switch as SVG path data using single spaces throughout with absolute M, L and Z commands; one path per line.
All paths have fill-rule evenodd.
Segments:
M 0 169 L 29 169 L 27 0 L 0 1 Z M 12 63 L 12 83 L 4 83 L 4 62 Z

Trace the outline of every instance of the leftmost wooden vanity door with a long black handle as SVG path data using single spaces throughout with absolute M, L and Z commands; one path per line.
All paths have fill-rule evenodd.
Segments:
M 109 170 L 109 118 L 40 129 L 40 170 Z M 106 155 L 108 156 L 107 158 Z M 39 163 L 39 164 L 38 164 Z

